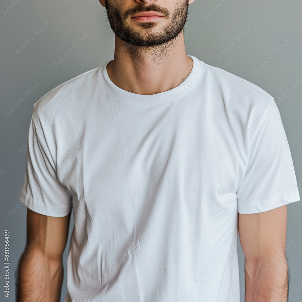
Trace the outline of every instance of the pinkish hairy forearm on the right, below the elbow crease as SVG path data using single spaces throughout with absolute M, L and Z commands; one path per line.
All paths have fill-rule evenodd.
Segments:
M 245 264 L 246 302 L 287 302 L 288 265 L 283 252 Z

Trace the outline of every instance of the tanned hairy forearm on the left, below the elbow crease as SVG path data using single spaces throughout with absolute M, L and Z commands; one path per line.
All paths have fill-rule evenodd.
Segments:
M 59 302 L 62 282 L 59 262 L 30 251 L 20 259 L 17 302 Z

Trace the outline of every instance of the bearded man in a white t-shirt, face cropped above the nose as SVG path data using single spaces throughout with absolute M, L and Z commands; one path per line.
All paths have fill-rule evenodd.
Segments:
M 193 1 L 100 0 L 114 60 L 34 104 L 18 301 L 59 301 L 66 265 L 64 302 L 239 301 L 238 228 L 246 302 L 287 301 L 289 142 L 271 95 L 186 55 Z

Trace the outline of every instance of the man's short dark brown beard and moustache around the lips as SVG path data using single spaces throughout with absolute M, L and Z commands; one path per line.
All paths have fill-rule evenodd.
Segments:
M 181 3 L 176 3 L 176 7 L 169 12 L 166 8 L 161 8 L 154 3 L 150 5 L 139 4 L 124 13 L 120 11 L 117 5 L 105 0 L 108 22 L 115 36 L 123 40 L 125 43 L 140 47 L 153 47 L 168 43 L 178 37 L 185 27 L 188 19 L 189 1 L 181 0 Z M 141 29 L 136 30 L 126 25 L 127 18 L 134 14 L 143 11 L 156 11 L 161 13 L 169 20 L 168 24 L 160 31 L 152 30 L 156 27 L 157 22 L 138 22 L 137 26 Z

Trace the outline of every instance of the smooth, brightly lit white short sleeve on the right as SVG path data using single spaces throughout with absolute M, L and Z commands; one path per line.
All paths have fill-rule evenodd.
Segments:
M 291 143 L 272 98 L 249 142 L 247 169 L 236 192 L 239 214 L 265 212 L 300 201 Z

